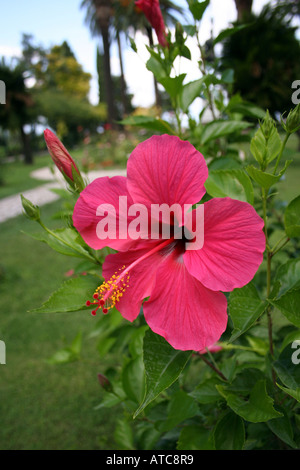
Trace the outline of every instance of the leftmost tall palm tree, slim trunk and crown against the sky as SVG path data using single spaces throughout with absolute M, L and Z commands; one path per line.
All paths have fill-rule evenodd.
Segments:
M 110 28 L 113 18 L 113 6 L 111 0 L 83 0 L 81 7 L 86 9 L 85 21 L 88 24 L 93 36 L 102 37 L 103 43 L 103 72 L 105 84 L 105 96 L 107 104 L 107 118 L 112 127 L 115 127 L 115 107 L 113 80 L 110 67 Z

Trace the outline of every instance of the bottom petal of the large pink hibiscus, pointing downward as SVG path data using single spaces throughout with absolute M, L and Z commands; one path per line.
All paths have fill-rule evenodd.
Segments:
M 143 308 L 150 328 L 184 351 L 211 346 L 227 325 L 225 295 L 206 289 L 173 255 L 158 269 L 150 300 Z

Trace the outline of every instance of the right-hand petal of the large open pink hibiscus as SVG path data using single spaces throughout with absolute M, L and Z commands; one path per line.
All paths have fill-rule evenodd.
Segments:
M 229 292 L 251 281 L 263 260 L 264 222 L 247 202 L 215 198 L 204 203 L 204 244 L 184 263 L 212 290 Z

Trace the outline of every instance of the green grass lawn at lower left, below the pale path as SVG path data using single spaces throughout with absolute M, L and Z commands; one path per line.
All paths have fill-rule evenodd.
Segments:
M 51 216 L 59 203 L 42 208 Z M 38 226 L 24 216 L 0 226 L 0 449 L 110 449 L 113 416 L 95 411 L 101 401 L 97 373 L 104 364 L 88 338 L 95 319 L 87 312 L 35 314 L 76 259 L 53 252 L 21 231 Z M 83 334 L 82 360 L 50 365 L 47 358 Z

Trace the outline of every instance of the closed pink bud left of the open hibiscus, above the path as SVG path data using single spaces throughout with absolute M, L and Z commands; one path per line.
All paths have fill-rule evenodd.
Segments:
M 82 176 L 65 146 L 49 129 L 45 130 L 44 137 L 51 158 L 66 181 L 74 189 L 76 188 L 82 191 L 82 189 L 84 189 Z

